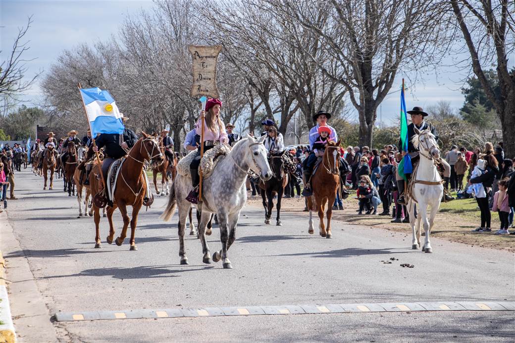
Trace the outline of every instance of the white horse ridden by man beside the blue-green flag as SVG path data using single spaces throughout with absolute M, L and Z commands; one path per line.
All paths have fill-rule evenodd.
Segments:
M 411 177 L 415 182 L 412 194 L 418 202 L 418 214 L 415 219 L 416 203 L 413 198 L 409 197 L 408 212 L 409 225 L 413 231 L 413 240 L 411 242 L 412 249 L 420 247 L 420 223 L 424 225 L 425 242 L 422 251 L 433 252 L 430 242 L 431 229 L 435 224 L 435 217 L 440 208 L 440 201 L 443 195 L 442 178 L 438 173 L 435 163 L 440 160 L 440 148 L 436 143 L 435 136 L 428 130 L 418 130 L 415 127 L 415 136 L 411 140 L 416 149 L 420 153 L 420 162 L 416 173 Z M 431 206 L 431 213 L 427 217 L 427 208 Z M 415 230 L 415 220 L 417 220 L 417 229 Z

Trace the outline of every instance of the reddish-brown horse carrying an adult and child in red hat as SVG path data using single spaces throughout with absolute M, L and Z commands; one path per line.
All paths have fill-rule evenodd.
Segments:
M 318 209 L 318 218 L 320 218 L 320 236 L 332 238 L 331 234 L 331 216 L 333 214 L 333 203 L 336 198 L 336 192 L 340 185 L 340 141 L 337 143 L 329 142 L 325 146 L 322 161 L 318 166 L 318 170 L 311 178 L 313 195 L 307 198 L 307 207 L 310 209 L 310 227 L 308 232 L 313 234 L 313 211 L 316 206 Z M 327 227 L 323 224 L 323 212 L 325 204 L 329 203 L 327 208 Z

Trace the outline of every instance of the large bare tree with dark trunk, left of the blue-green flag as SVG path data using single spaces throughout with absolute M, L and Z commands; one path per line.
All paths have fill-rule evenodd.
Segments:
M 399 71 L 418 74 L 438 62 L 444 44 L 440 0 L 285 0 L 284 12 L 316 32 L 338 67 L 319 66 L 348 91 L 359 116 L 359 144 L 372 145 L 376 109 Z M 325 22 L 315 20 L 330 13 Z M 316 60 L 316 59 L 314 59 Z

